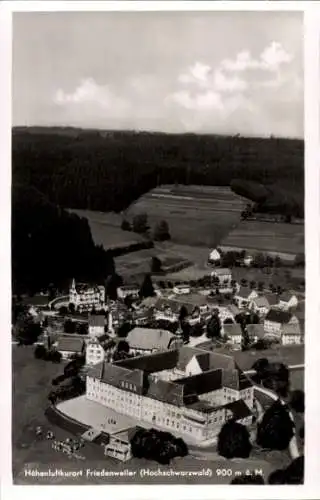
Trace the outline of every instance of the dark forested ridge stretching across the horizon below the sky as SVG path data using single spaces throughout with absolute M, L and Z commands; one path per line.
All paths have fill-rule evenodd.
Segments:
M 14 182 L 62 207 L 120 212 L 162 184 L 228 186 L 246 178 L 303 193 L 304 143 L 213 135 L 18 127 Z

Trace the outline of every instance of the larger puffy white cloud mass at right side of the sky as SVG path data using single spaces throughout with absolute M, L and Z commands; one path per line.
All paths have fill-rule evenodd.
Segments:
M 302 78 L 294 71 L 293 61 L 278 42 L 265 47 L 257 58 L 242 50 L 216 66 L 197 61 L 178 76 L 178 88 L 167 102 L 180 107 L 183 123 L 198 130 L 214 123 L 220 129 L 229 126 L 241 132 L 242 128 L 243 133 L 267 133 L 269 128 L 271 134 L 274 129 L 281 131 L 284 111 L 288 129 L 288 116 L 295 106 L 301 110 L 303 102 Z M 192 119 L 187 116 L 191 111 Z

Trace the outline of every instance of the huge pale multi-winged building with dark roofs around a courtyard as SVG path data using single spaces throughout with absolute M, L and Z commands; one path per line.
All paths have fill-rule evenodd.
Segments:
M 232 357 L 196 348 L 96 365 L 86 397 L 196 442 L 213 439 L 230 418 L 252 421 L 250 380 Z

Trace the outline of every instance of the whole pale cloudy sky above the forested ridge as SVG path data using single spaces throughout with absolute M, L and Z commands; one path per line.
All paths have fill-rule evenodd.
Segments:
M 13 14 L 13 125 L 303 137 L 299 12 Z

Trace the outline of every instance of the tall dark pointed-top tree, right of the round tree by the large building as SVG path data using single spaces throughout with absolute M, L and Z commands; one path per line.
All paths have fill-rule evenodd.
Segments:
M 294 435 L 288 407 L 275 401 L 263 415 L 257 427 L 257 444 L 262 448 L 283 451 L 288 448 Z

